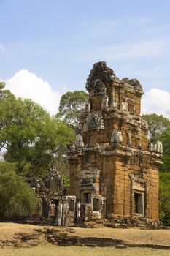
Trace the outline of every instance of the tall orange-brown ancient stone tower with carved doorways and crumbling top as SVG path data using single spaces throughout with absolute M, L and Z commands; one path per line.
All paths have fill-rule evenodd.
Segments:
M 149 144 L 140 116 L 142 86 L 119 80 L 105 62 L 87 79 L 82 135 L 69 149 L 70 194 L 77 222 L 158 222 L 158 166 L 162 145 Z

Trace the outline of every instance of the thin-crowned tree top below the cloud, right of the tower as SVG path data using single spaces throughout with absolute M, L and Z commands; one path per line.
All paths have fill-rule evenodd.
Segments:
M 142 118 L 147 121 L 149 126 L 149 135 L 152 142 L 160 140 L 161 133 L 168 127 L 170 127 L 170 120 L 163 117 L 162 115 L 158 116 L 157 114 L 146 114 Z

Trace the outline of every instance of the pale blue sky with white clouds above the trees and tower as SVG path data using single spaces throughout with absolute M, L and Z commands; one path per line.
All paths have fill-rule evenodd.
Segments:
M 17 96 L 39 94 L 53 113 L 61 94 L 85 89 L 94 62 L 107 61 L 142 83 L 144 112 L 170 111 L 169 0 L 0 0 L 0 10 L 0 78 Z

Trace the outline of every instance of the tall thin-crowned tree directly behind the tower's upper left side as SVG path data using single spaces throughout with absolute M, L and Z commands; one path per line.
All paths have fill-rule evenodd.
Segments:
M 61 118 L 69 127 L 80 133 L 80 111 L 88 102 L 88 94 L 85 91 L 68 91 L 63 94 L 60 101 L 59 112 L 55 116 Z

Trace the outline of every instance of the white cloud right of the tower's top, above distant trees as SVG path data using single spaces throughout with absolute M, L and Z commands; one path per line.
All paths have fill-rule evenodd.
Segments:
M 170 93 L 152 88 L 142 97 L 142 113 L 166 115 L 170 111 Z

